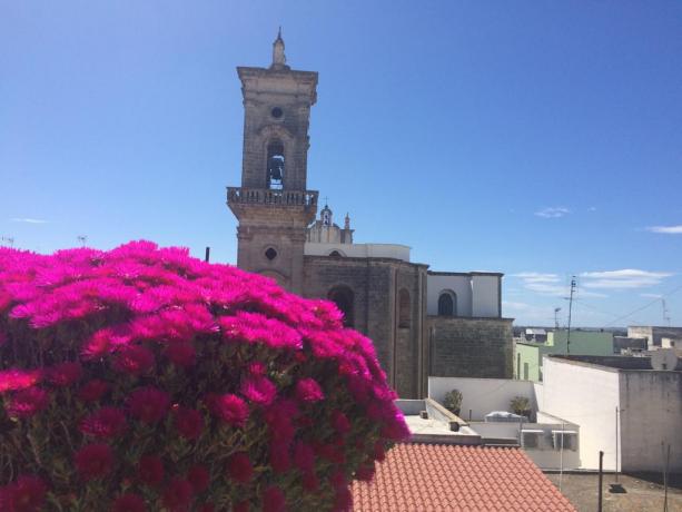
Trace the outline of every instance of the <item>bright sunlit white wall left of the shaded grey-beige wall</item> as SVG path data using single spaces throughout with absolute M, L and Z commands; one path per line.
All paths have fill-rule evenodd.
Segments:
M 582 467 L 615 469 L 615 407 L 619 405 L 619 373 L 615 370 L 562 363 L 543 358 L 544 382 L 537 390 L 543 411 L 580 425 Z M 619 464 L 620 465 L 620 464 Z

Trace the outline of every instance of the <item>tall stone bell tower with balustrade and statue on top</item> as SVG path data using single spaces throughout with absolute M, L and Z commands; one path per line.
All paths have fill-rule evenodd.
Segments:
M 317 191 L 306 190 L 308 125 L 317 72 L 286 65 L 281 31 L 269 68 L 238 67 L 244 96 L 241 186 L 227 187 L 237 228 L 237 265 L 303 292 L 306 228 Z

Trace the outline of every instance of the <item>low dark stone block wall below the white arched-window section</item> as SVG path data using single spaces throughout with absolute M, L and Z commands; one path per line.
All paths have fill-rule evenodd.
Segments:
M 512 322 L 429 316 L 429 375 L 512 378 Z

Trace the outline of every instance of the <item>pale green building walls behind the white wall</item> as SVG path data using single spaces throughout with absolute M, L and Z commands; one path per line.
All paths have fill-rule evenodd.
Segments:
M 569 332 L 547 333 L 545 343 L 517 342 L 514 345 L 514 377 L 522 381 L 542 381 L 542 357 L 545 354 L 569 354 Z M 571 331 L 571 354 L 613 355 L 613 334 Z

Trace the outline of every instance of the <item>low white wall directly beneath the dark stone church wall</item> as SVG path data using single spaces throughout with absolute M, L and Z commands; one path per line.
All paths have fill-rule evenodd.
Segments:
M 445 393 L 452 390 L 462 392 L 463 420 L 468 420 L 472 410 L 472 421 L 483 421 L 493 411 L 510 411 L 510 402 L 515 396 L 525 396 L 531 401 L 531 407 L 536 410 L 535 393 L 531 381 L 513 381 L 510 378 L 465 378 L 465 377 L 428 377 L 428 397 L 443 403 Z

